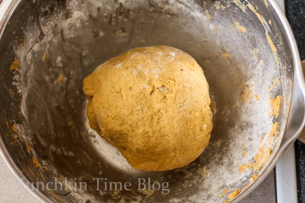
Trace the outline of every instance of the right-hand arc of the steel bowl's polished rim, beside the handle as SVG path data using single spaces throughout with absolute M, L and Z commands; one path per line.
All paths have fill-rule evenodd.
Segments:
M 263 2 L 264 3 L 264 2 Z M 293 74 L 293 86 L 292 86 L 292 95 L 291 95 L 291 100 L 290 100 L 290 106 L 289 106 L 289 112 L 288 112 L 288 118 L 287 118 L 287 123 L 284 131 L 284 136 L 281 141 L 280 147 L 278 150 L 275 152 L 275 155 L 271 157 L 271 160 L 269 163 L 267 163 L 267 166 L 264 168 L 264 170 L 260 171 L 260 174 L 258 174 L 258 178 L 254 180 L 252 183 L 250 183 L 249 186 L 244 188 L 236 197 L 234 197 L 232 200 L 230 200 L 230 203 L 237 203 L 244 199 L 246 196 L 248 196 L 257 186 L 259 186 L 265 178 L 269 175 L 269 173 L 275 168 L 277 162 L 280 160 L 282 154 L 297 140 L 299 134 L 301 133 L 304 124 L 305 124 L 305 119 L 304 117 L 302 118 L 302 123 L 299 126 L 296 126 L 293 131 L 293 133 L 288 134 L 286 138 L 285 132 L 289 128 L 289 118 L 292 116 L 292 110 L 293 110 L 293 99 L 297 100 L 300 98 L 302 101 L 305 100 L 305 83 L 304 83 L 304 77 L 303 77 L 303 71 L 302 71 L 302 65 L 301 65 L 301 60 L 298 52 L 298 47 L 292 32 L 292 29 L 290 27 L 290 24 L 286 18 L 286 15 L 282 8 L 280 7 L 279 3 L 277 0 L 265 0 L 265 4 L 269 4 L 271 6 L 271 9 L 275 11 L 275 16 L 277 16 L 280 20 L 279 23 L 283 26 L 283 33 L 286 35 L 288 44 L 289 44 L 289 50 L 291 51 L 291 56 L 292 56 L 292 68 L 294 71 Z M 299 89 L 297 89 L 299 88 Z M 298 97 L 298 98 L 296 98 Z M 300 104 L 301 107 L 304 107 L 304 104 Z M 284 139 L 285 137 L 285 139 Z

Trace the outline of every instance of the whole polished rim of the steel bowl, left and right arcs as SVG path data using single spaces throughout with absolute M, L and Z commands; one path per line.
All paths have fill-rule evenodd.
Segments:
M 22 0 L 3 0 L 0 2 L 0 39 L 2 38 L 4 29 L 6 25 L 8 24 L 8 21 L 12 14 L 14 13 L 15 9 L 18 7 L 19 3 Z M 289 25 L 289 22 L 285 16 L 285 13 L 282 11 L 281 7 L 279 6 L 277 0 L 265 0 L 269 3 L 269 6 L 275 11 L 275 15 L 280 19 L 279 23 L 284 28 L 284 34 L 286 35 L 288 39 L 288 44 L 290 46 L 290 51 L 292 55 L 293 60 L 293 70 L 294 70 L 294 78 L 293 78 L 293 89 L 295 89 L 295 86 L 297 85 L 300 88 L 301 96 L 304 98 L 305 96 L 305 82 L 302 72 L 302 66 L 300 61 L 300 56 L 298 53 L 297 44 L 292 32 L 292 29 Z M 248 2 L 248 1 L 247 1 Z M 292 89 L 292 90 L 293 90 Z M 293 95 L 291 96 L 292 99 Z M 303 99 L 305 100 L 305 99 Z M 291 113 L 291 108 L 289 110 L 289 114 Z M 269 175 L 269 173 L 273 170 L 273 168 L 276 166 L 276 163 L 280 159 L 281 155 L 288 149 L 298 138 L 303 126 L 305 125 L 305 120 L 302 121 L 302 124 L 298 127 L 298 129 L 295 131 L 294 134 L 291 135 L 291 137 L 287 140 L 282 140 L 282 143 L 280 145 L 280 148 L 275 152 L 275 156 L 271 157 L 270 162 L 268 165 L 264 168 L 263 171 L 258 175 L 258 178 L 253 181 L 249 186 L 247 186 L 245 189 L 243 189 L 236 197 L 231 199 L 230 203 L 237 203 L 240 200 L 244 199 L 246 196 L 248 196 L 262 181 Z M 286 126 L 287 128 L 287 126 Z M 286 131 L 286 129 L 285 129 Z M 15 177 L 22 183 L 22 185 L 31 192 L 37 199 L 46 202 L 46 203 L 52 203 L 50 197 L 45 195 L 40 190 L 32 190 L 29 187 L 30 181 L 28 178 L 18 169 L 15 162 L 12 160 L 12 158 L 9 155 L 9 152 L 2 140 L 0 138 L 0 154 L 4 158 L 4 161 L 9 166 L 10 170 L 13 172 Z

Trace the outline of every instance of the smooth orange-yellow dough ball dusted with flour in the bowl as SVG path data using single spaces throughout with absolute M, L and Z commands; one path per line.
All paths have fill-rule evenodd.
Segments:
M 212 113 L 203 70 L 169 46 L 132 49 L 83 80 L 89 125 L 132 167 L 188 165 L 208 145 Z

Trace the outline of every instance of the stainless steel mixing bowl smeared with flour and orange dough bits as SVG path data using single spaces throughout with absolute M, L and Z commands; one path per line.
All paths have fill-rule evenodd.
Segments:
M 0 148 L 45 202 L 237 202 L 304 125 L 301 63 L 275 0 L 7 5 L 0 22 Z M 203 154 L 158 173 L 134 170 L 89 128 L 81 90 L 97 65 L 150 45 L 177 47 L 198 61 L 215 111 Z

